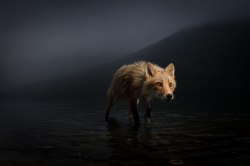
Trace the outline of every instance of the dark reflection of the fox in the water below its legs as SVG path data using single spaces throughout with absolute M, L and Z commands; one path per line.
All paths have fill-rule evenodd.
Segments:
M 121 161 L 125 165 L 161 165 L 169 163 L 166 157 L 157 161 L 154 158 L 157 155 L 156 150 L 151 146 L 152 133 L 150 127 L 140 127 L 139 125 L 128 126 L 124 131 L 121 122 L 115 117 L 111 117 L 107 124 L 108 132 L 111 138 L 110 147 L 113 152 L 109 157 L 109 162 L 119 164 Z M 155 152 L 155 153 L 154 153 Z

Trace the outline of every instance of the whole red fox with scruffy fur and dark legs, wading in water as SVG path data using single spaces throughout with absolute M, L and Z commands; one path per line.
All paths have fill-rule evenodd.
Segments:
M 174 64 L 170 63 L 165 69 L 150 62 L 135 62 L 124 65 L 116 71 L 108 89 L 108 106 L 105 119 L 109 119 L 109 111 L 119 99 L 129 101 L 129 117 L 135 124 L 140 124 L 137 106 L 142 98 L 146 105 L 145 122 L 151 124 L 150 100 L 157 97 L 165 102 L 174 98 L 176 88 Z

